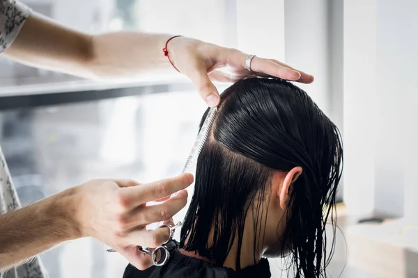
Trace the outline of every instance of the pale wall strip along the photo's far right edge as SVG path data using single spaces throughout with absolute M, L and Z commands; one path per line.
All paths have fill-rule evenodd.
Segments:
M 396 209 L 408 220 L 418 211 L 418 1 L 378 2 L 378 88 L 382 106 L 376 210 Z M 385 175 L 387 176 L 387 174 Z

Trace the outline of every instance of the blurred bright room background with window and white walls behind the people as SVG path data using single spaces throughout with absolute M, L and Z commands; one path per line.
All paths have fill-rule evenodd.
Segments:
M 345 147 L 328 272 L 418 277 L 417 1 L 23 2 L 82 31 L 187 35 L 313 74 L 300 86 L 339 126 Z M 0 144 L 24 204 L 88 179 L 178 174 L 205 109 L 177 74 L 94 83 L 0 58 Z M 106 249 L 86 238 L 42 259 L 54 278 L 121 277 L 127 261 Z M 271 265 L 273 277 L 287 277 L 286 261 Z

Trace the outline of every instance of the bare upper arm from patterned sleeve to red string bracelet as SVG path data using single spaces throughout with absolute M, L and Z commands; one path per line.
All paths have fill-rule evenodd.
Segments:
M 138 32 L 88 35 L 33 13 L 5 55 L 88 79 L 118 79 L 154 70 L 175 72 L 162 52 L 169 37 Z

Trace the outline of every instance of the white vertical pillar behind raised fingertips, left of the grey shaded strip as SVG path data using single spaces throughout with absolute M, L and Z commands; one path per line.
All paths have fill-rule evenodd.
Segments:
M 330 112 L 328 22 L 327 0 L 285 1 L 286 63 L 315 76 L 314 83 L 297 85 L 327 115 Z

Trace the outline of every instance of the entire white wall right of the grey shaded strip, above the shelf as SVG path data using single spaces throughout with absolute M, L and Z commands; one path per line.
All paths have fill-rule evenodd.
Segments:
M 345 1 L 345 200 L 350 213 L 414 215 L 418 2 Z

